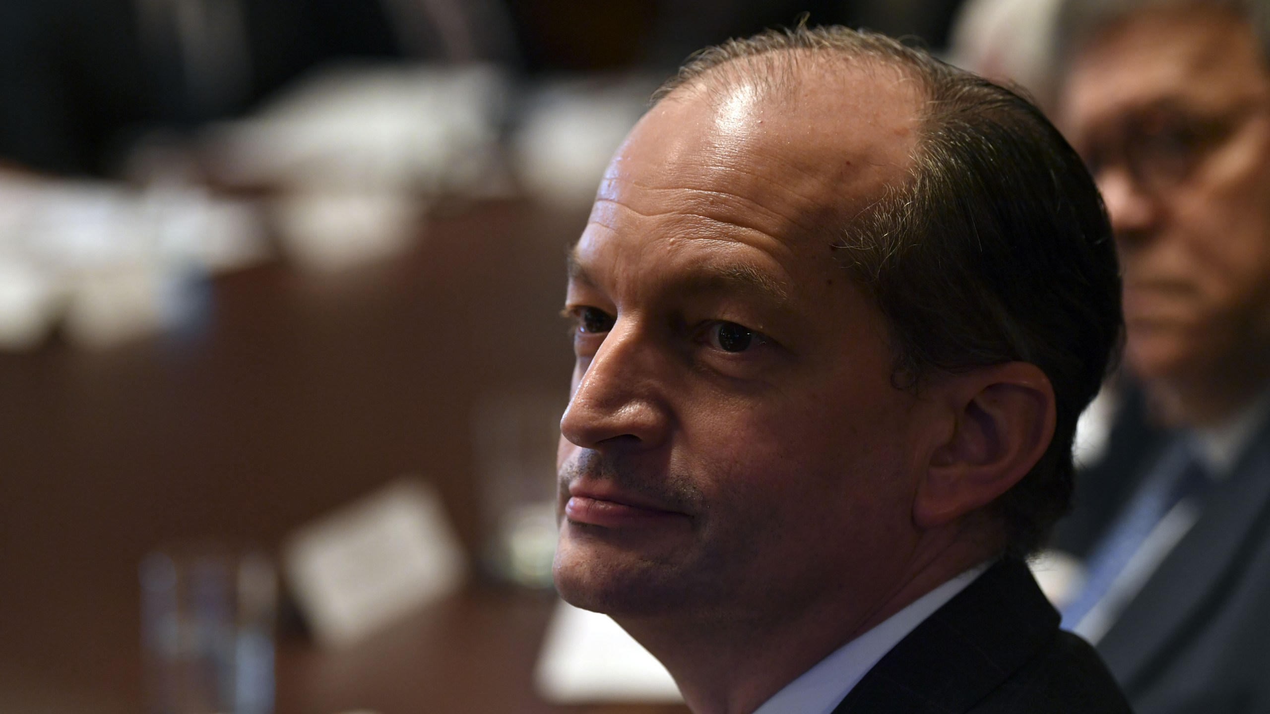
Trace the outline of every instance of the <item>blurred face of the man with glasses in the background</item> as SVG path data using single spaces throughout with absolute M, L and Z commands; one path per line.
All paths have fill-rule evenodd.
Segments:
M 1082 51 L 1063 121 L 1090 163 L 1124 269 L 1143 379 L 1212 379 L 1270 335 L 1270 77 L 1248 28 L 1146 11 Z

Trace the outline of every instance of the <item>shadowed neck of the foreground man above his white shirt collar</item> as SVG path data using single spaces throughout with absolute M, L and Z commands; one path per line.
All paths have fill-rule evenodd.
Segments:
M 955 540 L 927 550 L 914 553 L 889 583 L 871 583 L 876 593 L 853 607 L 843 605 L 857 600 L 845 597 L 843 586 L 767 619 L 664 615 L 617 621 L 665 664 L 695 714 L 749 714 L 839 647 L 991 556 L 982 546 Z

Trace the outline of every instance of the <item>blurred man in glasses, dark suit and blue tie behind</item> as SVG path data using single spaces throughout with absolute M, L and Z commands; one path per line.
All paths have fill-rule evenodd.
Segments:
M 1118 473 L 1087 475 L 1064 534 L 1088 546 L 1064 625 L 1143 714 L 1270 710 L 1267 10 L 1069 0 L 1059 17 L 1060 121 L 1116 232 L 1142 387 L 1111 433 Z

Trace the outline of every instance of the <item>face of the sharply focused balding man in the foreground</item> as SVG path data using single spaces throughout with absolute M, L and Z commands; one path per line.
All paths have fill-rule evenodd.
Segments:
M 908 86 L 881 70 L 779 98 L 690 86 L 618 151 L 565 307 L 570 602 L 753 617 L 867 597 L 902 567 L 913 398 L 828 226 L 908 165 Z

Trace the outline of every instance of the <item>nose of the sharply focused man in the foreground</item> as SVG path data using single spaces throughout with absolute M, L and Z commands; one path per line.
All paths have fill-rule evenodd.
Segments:
M 583 448 L 659 446 L 671 423 L 660 362 L 650 337 L 618 319 L 579 379 L 560 433 Z

